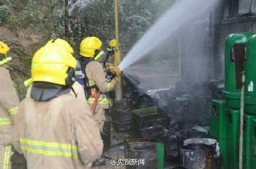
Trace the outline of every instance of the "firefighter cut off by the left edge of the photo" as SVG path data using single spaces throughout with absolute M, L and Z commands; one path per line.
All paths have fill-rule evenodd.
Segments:
M 0 41 L 0 168 L 10 168 L 13 143 L 13 117 L 17 114 L 19 97 L 10 78 L 8 63 L 9 47 Z

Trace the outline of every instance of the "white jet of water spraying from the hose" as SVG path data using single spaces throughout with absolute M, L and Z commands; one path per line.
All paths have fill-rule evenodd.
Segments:
M 181 0 L 167 10 L 144 36 L 131 48 L 126 57 L 119 64 L 125 70 L 131 64 L 141 59 L 163 41 L 168 39 L 179 28 L 186 27 L 187 23 L 198 21 L 205 16 L 209 8 L 219 0 Z

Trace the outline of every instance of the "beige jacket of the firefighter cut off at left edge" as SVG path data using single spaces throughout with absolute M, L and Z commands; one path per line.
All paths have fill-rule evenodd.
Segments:
M 9 70 L 0 66 L 0 144 L 12 145 L 13 116 L 16 116 L 19 97 L 10 78 Z

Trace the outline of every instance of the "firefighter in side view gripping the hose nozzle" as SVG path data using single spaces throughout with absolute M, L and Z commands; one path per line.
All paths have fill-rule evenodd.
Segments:
M 92 107 L 96 93 L 98 91 L 102 93 L 99 95 L 97 109 L 93 116 L 100 131 L 103 130 L 103 125 L 106 120 L 104 109 L 108 109 L 111 106 L 111 100 L 106 97 L 105 93 L 111 91 L 115 87 L 116 78 L 120 75 L 120 69 L 112 66 L 109 70 L 115 72 L 116 77 L 110 82 L 106 81 L 102 65 L 94 60 L 94 57 L 98 55 L 101 46 L 102 42 L 97 37 L 87 37 L 83 39 L 80 44 L 81 57 L 79 59 L 82 71 L 85 75 L 83 79 L 86 98 L 88 98 L 88 105 Z

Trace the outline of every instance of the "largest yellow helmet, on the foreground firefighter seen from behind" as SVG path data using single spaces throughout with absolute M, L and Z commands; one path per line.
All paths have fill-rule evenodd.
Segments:
M 76 59 L 58 45 L 47 45 L 35 52 L 32 64 L 32 80 L 71 86 L 75 81 Z

